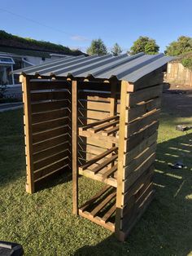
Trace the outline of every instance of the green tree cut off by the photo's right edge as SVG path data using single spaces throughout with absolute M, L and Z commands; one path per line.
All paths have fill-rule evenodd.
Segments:
M 164 53 L 166 55 L 177 56 L 192 51 L 192 38 L 181 36 L 177 41 L 171 42 Z

